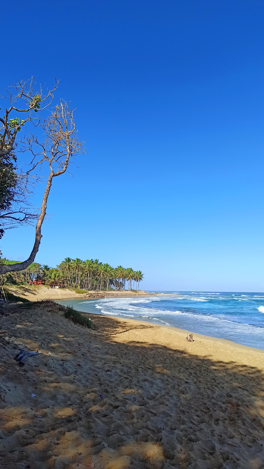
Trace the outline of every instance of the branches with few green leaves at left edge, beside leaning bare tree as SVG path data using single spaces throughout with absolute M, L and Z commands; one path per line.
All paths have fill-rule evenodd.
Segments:
M 0 96 L 4 103 L 8 101 L 5 115 L 0 117 L 0 238 L 6 229 L 32 225 L 38 219 L 38 211 L 31 204 L 32 182 L 36 180 L 31 180 L 28 174 L 17 167 L 14 151 L 20 150 L 17 133 L 21 128 L 27 134 L 26 124 L 38 127 L 43 122 L 57 87 L 55 79 L 52 90 L 44 91 L 44 86 L 40 85 L 36 91 L 32 77 L 8 87 L 4 95 Z M 35 113 L 38 112 L 40 115 L 37 117 Z

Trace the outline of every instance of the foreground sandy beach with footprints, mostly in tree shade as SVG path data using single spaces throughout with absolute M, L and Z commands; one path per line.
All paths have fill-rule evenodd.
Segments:
M 264 468 L 261 350 L 90 317 L 3 306 L 0 467 Z

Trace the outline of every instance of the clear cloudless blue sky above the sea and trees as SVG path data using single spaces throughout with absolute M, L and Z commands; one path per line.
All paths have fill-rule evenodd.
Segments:
M 264 292 L 263 24 L 258 0 L 1 6 L 1 87 L 56 76 L 86 137 L 74 177 L 53 184 L 37 262 L 96 257 L 140 269 L 145 289 Z M 3 255 L 25 259 L 33 239 L 7 232 Z

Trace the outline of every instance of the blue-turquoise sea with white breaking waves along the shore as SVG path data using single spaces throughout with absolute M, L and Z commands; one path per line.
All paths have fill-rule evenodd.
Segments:
M 264 350 L 264 293 L 163 292 L 179 296 L 65 300 L 76 310 L 170 325 Z

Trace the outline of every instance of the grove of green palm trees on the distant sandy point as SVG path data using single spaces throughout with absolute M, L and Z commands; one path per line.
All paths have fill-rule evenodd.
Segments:
M 15 264 L 18 261 L 1 259 L 2 264 Z M 70 287 L 78 290 L 139 290 L 144 276 L 140 270 L 122 265 L 111 267 L 98 259 L 82 261 L 78 257 L 65 259 L 56 268 L 33 262 L 22 271 L 1 275 L 2 285 L 48 285 L 50 287 Z

